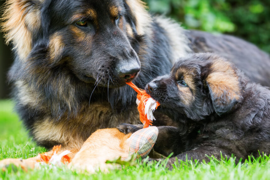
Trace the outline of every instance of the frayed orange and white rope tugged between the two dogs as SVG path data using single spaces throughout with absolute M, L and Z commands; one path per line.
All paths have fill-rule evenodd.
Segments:
M 145 90 L 138 88 L 132 82 L 128 82 L 127 85 L 132 87 L 137 93 L 137 105 L 140 113 L 140 120 L 143 123 L 143 128 L 148 128 L 152 125 L 154 118 L 153 112 L 160 105 L 158 101 L 155 101 Z

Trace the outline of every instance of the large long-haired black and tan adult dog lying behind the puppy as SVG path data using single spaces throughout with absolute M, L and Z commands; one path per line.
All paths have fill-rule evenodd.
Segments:
M 139 123 L 136 93 L 125 82 L 143 88 L 189 52 L 218 52 L 270 85 L 266 53 L 231 36 L 184 31 L 150 16 L 140 0 L 8 0 L 3 8 L 16 109 L 46 148 L 76 153 L 98 128 Z

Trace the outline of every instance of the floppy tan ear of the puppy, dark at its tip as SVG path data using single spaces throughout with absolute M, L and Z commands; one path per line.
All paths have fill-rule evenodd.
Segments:
M 214 111 L 221 115 L 231 110 L 240 101 L 240 86 L 235 68 L 219 57 L 211 63 L 206 85 L 213 103 Z

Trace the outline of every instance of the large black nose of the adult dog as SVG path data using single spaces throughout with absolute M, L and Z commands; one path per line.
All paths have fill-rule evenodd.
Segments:
M 122 66 L 121 68 L 119 68 L 118 76 L 121 79 L 128 81 L 136 77 L 139 71 L 140 71 L 139 64 L 130 64 L 130 65 Z

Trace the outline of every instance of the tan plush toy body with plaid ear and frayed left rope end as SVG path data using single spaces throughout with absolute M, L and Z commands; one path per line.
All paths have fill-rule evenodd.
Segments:
M 158 133 L 159 130 L 155 126 L 140 129 L 133 134 L 123 134 L 116 128 L 99 129 L 85 141 L 76 155 L 78 157 L 74 157 L 75 162 L 73 162 L 74 159 L 70 158 L 70 151 L 65 150 L 61 152 L 61 145 L 59 145 L 54 146 L 50 152 L 39 154 L 35 161 L 35 167 L 40 167 L 42 164 L 48 164 L 50 167 L 54 167 L 51 165 L 61 166 L 72 161 L 71 166 L 78 166 L 79 169 L 84 169 L 84 166 L 91 168 L 93 166 L 93 170 L 99 170 L 99 168 L 107 167 L 106 163 L 132 163 L 134 158 L 145 158 L 149 154 L 156 142 Z M 115 140 L 114 142 L 116 143 L 106 143 L 108 136 L 112 141 Z M 99 138 L 97 139 L 97 137 Z M 94 146 L 93 143 L 95 143 Z M 104 153 L 104 149 L 106 153 Z M 99 153 L 100 157 L 97 155 Z M 85 162 L 85 157 L 89 161 Z M 104 159 L 114 160 L 103 161 Z

